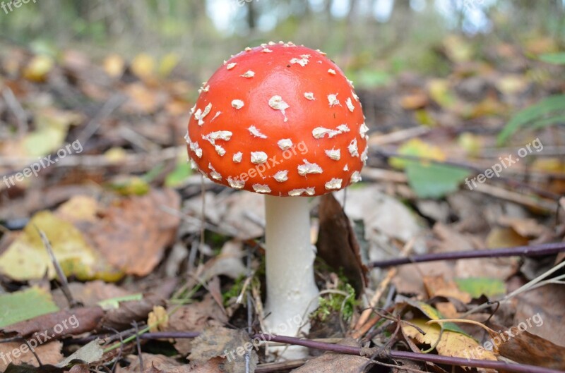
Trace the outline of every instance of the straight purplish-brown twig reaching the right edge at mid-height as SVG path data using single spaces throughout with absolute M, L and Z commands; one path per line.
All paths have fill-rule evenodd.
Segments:
M 492 250 L 433 252 L 431 254 L 413 255 L 412 257 L 400 257 L 381 260 L 378 262 L 370 262 L 367 264 L 367 267 L 382 268 L 411 263 L 436 262 L 438 260 L 476 259 L 488 257 L 539 257 L 542 255 L 552 255 L 561 251 L 565 251 L 565 243 L 541 243 L 540 245 L 504 247 Z

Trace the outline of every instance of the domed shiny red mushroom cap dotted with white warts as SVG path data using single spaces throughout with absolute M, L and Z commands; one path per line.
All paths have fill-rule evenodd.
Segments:
M 186 135 L 210 180 L 278 196 L 323 195 L 361 179 L 367 126 L 353 86 L 321 51 L 246 48 L 203 84 Z

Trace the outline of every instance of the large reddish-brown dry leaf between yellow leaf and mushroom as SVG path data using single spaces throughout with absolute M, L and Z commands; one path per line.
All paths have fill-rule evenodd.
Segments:
M 114 267 L 145 276 L 160 262 L 179 226 L 179 218 L 162 207 L 178 210 L 179 206 L 179 195 L 169 189 L 127 197 L 109 207 L 86 234 Z

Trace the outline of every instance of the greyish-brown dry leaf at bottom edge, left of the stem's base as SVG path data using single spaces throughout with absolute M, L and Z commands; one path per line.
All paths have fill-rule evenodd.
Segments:
M 224 358 L 224 371 L 227 373 L 245 373 L 245 352 L 250 353 L 249 372 L 255 372 L 258 362 L 256 350 L 251 338 L 242 330 L 212 326 L 205 329 L 194 339 L 189 360 L 203 365 L 214 357 Z

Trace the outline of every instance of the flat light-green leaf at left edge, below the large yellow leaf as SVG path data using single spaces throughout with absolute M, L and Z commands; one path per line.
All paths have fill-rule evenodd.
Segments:
M 0 295 L 0 328 L 57 311 L 51 294 L 35 286 Z

